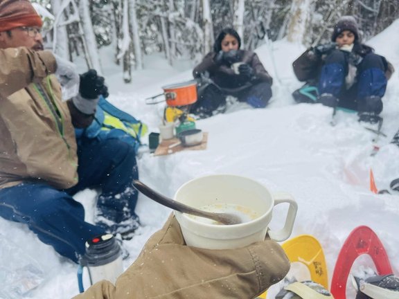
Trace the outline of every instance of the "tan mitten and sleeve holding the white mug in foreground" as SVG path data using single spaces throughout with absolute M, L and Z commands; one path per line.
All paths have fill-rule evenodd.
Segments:
M 170 217 L 115 286 L 103 280 L 74 299 L 251 299 L 289 269 L 283 249 L 268 237 L 240 249 L 190 247 Z

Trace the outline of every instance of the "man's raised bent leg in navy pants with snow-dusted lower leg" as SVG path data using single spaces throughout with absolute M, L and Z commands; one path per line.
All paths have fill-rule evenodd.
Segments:
M 118 139 L 85 138 L 78 146 L 78 161 L 79 183 L 67 192 L 100 188 L 96 225 L 107 233 L 132 233 L 140 225 L 134 212 L 138 192 L 132 181 L 139 179 L 139 172 L 132 145 Z

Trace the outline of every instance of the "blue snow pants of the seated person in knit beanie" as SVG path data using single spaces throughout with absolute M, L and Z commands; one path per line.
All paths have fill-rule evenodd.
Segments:
M 380 55 L 369 53 L 357 65 L 355 84 L 349 89 L 345 87 L 348 75 L 349 53 L 335 50 L 326 57 L 326 64 L 321 69 L 319 78 L 319 94 L 331 93 L 339 99 L 339 107 L 357 111 L 370 111 L 366 107 L 366 98 L 378 96 L 382 98 L 387 88 L 384 75 L 384 62 Z M 382 111 L 382 102 L 375 105 L 375 113 Z

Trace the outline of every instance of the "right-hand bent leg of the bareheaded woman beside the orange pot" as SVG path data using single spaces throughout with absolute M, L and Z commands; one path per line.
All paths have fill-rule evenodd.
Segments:
M 272 87 L 267 82 L 254 84 L 238 96 L 240 102 L 247 102 L 254 108 L 265 108 L 270 98 L 272 98 Z

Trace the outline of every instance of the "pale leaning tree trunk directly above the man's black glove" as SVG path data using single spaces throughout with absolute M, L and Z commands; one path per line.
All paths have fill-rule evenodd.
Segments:
M 96 35 L 94 34 L 93 24 L 91 23 L 89 1 L 80 0 L 79 15 L 82 22 L 82 30 L 85 33 L 82 37 L 82 42 L 86 43 L 87 49 L 85 50 L 87 50 L 87 54 L 89 55 L 91 67 L 96 69 L 97 73 L 102 75 L 103 69 L 100 63 L 100 55 L 98 55 Z

